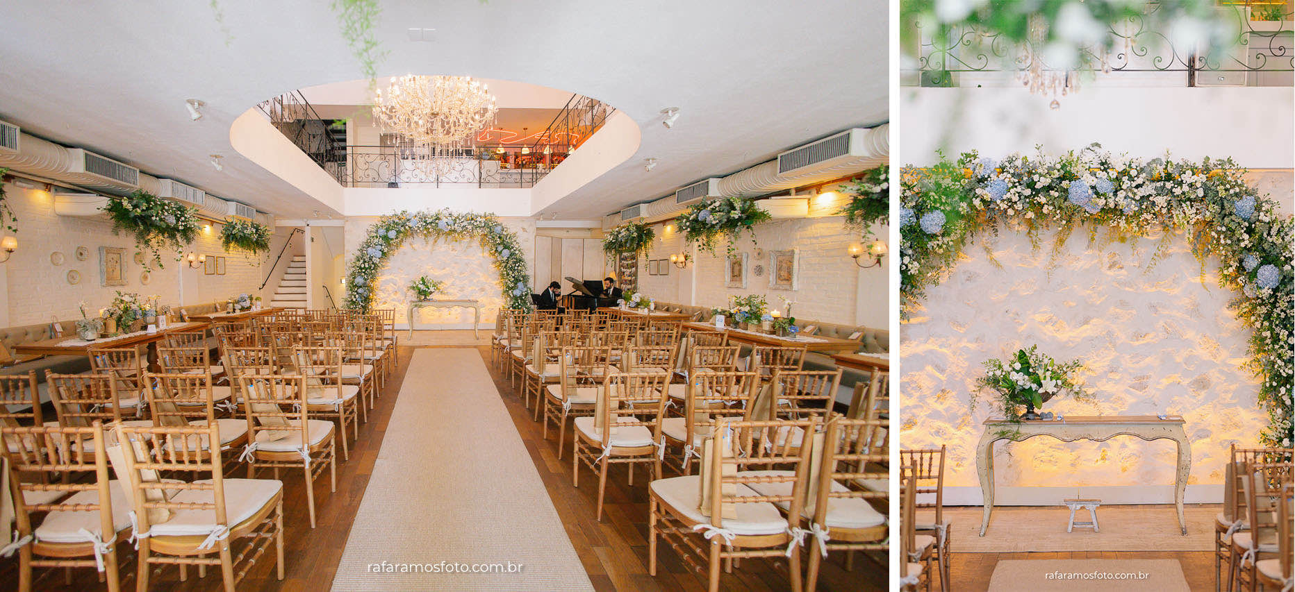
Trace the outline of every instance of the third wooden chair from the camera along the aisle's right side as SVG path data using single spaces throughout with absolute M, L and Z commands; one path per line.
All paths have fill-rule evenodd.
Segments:
M 544 439 L 549 439 L 550 418 L 558 425 L 558 459 L 566 442 L 567 418 L 593 414 L 598 388 L 609 374 L 611 348 L 567 346 L 558 358 L 558 381 L 544 388 Z

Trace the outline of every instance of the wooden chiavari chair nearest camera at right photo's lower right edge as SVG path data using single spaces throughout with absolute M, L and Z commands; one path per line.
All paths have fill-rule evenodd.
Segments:
M 1277 544 L 1277 502 L 1282 483 L 1291 481 L 1291 463 L 1250 463 L 1241 474 L 1246 495 L 1246 526 L 1232 535 L 1232 571 L 1228 589 L 1255 591 L 1257 562 L 1273 557 Z M 1237 588 L 1233 588 L 1235 582 Z

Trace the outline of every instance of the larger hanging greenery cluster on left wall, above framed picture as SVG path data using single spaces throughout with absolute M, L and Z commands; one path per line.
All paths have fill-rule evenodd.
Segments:
M 153 253 L 153 262 L 162 265 L 162 251 L 180 253 L 198 237 L 197 209 L 148 191 L 137 190 L 120 198 L 109 198 L 102 208 L 113 218 L 113 234 L 135 235 L 141 251 Z M 145 269 L 149 265 L 145 264 Z

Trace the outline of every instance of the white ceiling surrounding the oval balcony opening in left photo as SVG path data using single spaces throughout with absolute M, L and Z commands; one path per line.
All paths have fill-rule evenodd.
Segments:
M 8 0 L 0 119 L 285 217 L 321 204 L 238 155 L 233 120 L 297 88 L 363 78 L 322 0 Z M 592 217 L 767 160 L 887 111 L 883 0 L 382 0 L 379 76 L 469 75 L 605 101 L 638 154 L 545 213 Z M 433 27 L 411 41 L 408 27 Z M 228 43 L 227 43 L 228 41 Z M 206 101 L 190 122 L 184 100 Z M 662 107 L 681 110 L 675 129 Z M 216 172 L 208 154 L 223 154 Z M 658 165 L 644 171 L 642 159 Z

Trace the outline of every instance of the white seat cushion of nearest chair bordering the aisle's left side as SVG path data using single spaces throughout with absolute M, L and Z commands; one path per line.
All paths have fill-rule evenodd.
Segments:
M 277 480 L 221 480 L 225 489 L 225 518 L 227 526 L 234 526 L 253 517 L 271 503 L 282 489 L 284 483 Z M 211 480 L 194 481 L 194 483 L 210 483 Z M 216 499 L 212 490 L 181 490 L 171 498 L 171 502 L 210 504 Z M 211 533 L 216 526 L 216 511 L 214 509 L 177 509 L 166 522 L 149 526 L 152 536 L 193 536 Z M 130 518 L 127 518 L 130 523 Z

